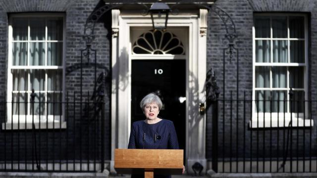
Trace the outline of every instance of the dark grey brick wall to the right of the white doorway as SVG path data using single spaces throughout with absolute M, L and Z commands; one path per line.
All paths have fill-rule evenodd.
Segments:
M 253 26 L 253 13 L 254 12 L 287 12 L 287 13 L 308 13 L 311 14 L 309 19 L 310 28 L 310 46 L 309 46 L 309 94 L 312 99 L 316 99 L 316 81 L 312 80 L 316 78 L 316 33 L 314 28 L 317 25 L 315 19 L 316 15 L 316 0 L 217 0 L 215 5 L 226 11 L 233 19 L 238 38 L 235 41 L 235 47 L 239 49 L 239 67 L 237 67 L 237 59 L 235 58 L 231 62 L 226 55 L 223 60 L 223 49 L 227 45 L 223 44 L 223 38 L 225 35 L 225 29 L 223 23 L 217 17 L 215 13 L 211 11 L 209 14 L 208 21 L 208 39 L 207 39 L 207 66 L 208 69 L 214 69 L 218 85 L 220 87 L 220 98 L 223 96 L 226 99 L 230 99 L 232 92 L 233 99 L 237 97 L 237 75 L 239 74 L 239 98 L 243 98 L 243 92 L 246 91 L 247 98 L 251 97 L 252 92 L 252 26 Z M 225 62 L 225 79 L 223 80 L 223 62 Z M 237 70 L 239 72 L 237 73 Z M 224 81 L 224 83 L 223 83 Z M 223 88 L 225 88 L 223 92 Z M 223 95 L 224 94 L 224 95 Z M 248 124 L 251 116 L 250 103 L 246 105 L 246 120 L 243 117 L 243 105 L 240 102 L 237 106 L 235 101 L 225 102 L 224 109 L 223 103 L 219 102 L 219 120 L 218 120 L 218 140 L 219 140 L 219 156 L 222 159 L 222 154 L 225 158 L 229 156 L 236 156 L 241 158 L 243 153 L 247 157 L 252 154 L 253 157 L 274 157 L 281 156 L 285 150 L 283 150 L 283 137 L 287 138 L 287 129 L 274 129 L 274 130 L 246 130 L 246 147 L 242 144 L 243 140 L 243 128 L 248 128 Z M 313 108 L 316 108 L 316 103 L 313 103 Z M 237 112 L 238 110 L 238 112 Z M 312 113 L 312 119 L 316 122 L 316 111 Z M 224 115 L 222 114 L 224 113 Z M 224 118 L 224 119 L 223 119 Z M 230 120 L 232 118 L 232 120 Z M 207 158 L 211 159 L 212 152 L 212 109 L 209 108 L 207 112 Z M 238 126 L 238 131 L 236 127 Z M 312 129 L 312 150 L 317 149 L 316 137 L 316 126 Z M 252 134 L 251 134 L 252 133 Z M 297 133 L 300 135 L 297 141 Z M 279 134 L 279 144 L 277 144 L 277 134 Z M 299 145 L 300 155 L 306 154 L 308 156 L 308 145 L 310 130 L 304 131 L 303 129 L 295 129 L 293 132 L 293 150 L 296 150 L 297 144 Z M 303 135 L 306 135 L 305 142 L 303 141 Z M 230 144 L 230 137 L 232 135 L 232 144 Z M 222 141 L 224 139 L 224 142 Z M 238 141 L 236 141 L 238 140 Z M 257 143 L 259 141 L 259 148 Z M 237 145 L 238 143 L 238 145 Z M 306 145 L 306 151 L 303 150 L 304 144 Z M 251 150 L 251 146 L 253 148 Z M 236 147 L 238 146 L 238 149 Z M 277 152 L 277 147 L 279 151 Z M 284 146 L 285 147 L 285 146 Z M 273 151 L 270 150 L 272 148 Z M 275 151 L 274 151 L 275 150 Z M 244 152 L 245 151 L 245 152 Z M 295 151 L 293 151 L 293 154 Z M 293 155 L 294 156 L 294 155 Z M 316 156 L 316 155 L 315 155 Z M 221 160 L 220 159 L 220 160 Z

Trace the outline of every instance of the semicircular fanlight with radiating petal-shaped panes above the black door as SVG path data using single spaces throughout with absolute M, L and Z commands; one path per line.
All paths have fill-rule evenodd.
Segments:
M 133 44 L 132 51 L 134 54 L 185 54 L 180 39 L 170 32 L 161 30 L 142 34 Z

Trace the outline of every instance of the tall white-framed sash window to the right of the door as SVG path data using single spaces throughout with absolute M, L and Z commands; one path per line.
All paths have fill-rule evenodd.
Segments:
M 296 123 L 292 126 L 297 126 L 296 120 L 305 119 L 307 110 L 307 17 L 256 14 L 253 39 L 255 112 L 251 126 L 271 127 L 271 122 L 272 127 L 283 126 L 284 118 L 285 126 L 290 118 Z

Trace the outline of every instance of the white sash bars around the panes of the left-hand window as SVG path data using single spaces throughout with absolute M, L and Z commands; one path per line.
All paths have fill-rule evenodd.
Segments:
M 31 37 L 30 37 L 30 30 L 32 30 L 32 28 L 30 28 L 30 24 L 28 23 L 28 28 L 27 28 L 27 39 L 19 39 L 19 40 L 14 40 L 13 39 L 13 33 L 14 33 L 14 29 L 12 28 L 12 23 L 13 23 L 13 19 L 14 18 L 25 18 L 25 19 L 29 19 L 30 18 L 34 18 L 34 17 L 39 17 L 39 16 L 42 16 L 43 19 L 45 19 L 45 39 L 44 40 L 31 40 Z M 41 17 L 41 18 L 42 18 Z M 50 19 L 58 19 L 60 20 L 60 23 L 58 24 L 59 25 L 59 30 L 57 31 L 54 31 L 54 30 L 51 30 L 51 29 L 54 29 L 55 27 L 53 25 L 51 25 L 53 28 L 49 28 L 49 24 L 48 24 L 48 21 Z M 49 35 L 48 33 L 51 34 L 50 39 L 49 38 Z M 60 34 L 61 33 L 61 34 Z M 53 37 L 54 36 L 54 37 Z M 55 39 L 54 39 L 55 38 Z M 9 38 L 8 38 L 8 42 L 9 42 L 9 51 L 8 51 L 8 94 L 7 94 L 7 109 L 8 109 L 8 112 L 7 112 L 7 122 L 9 122 L 10 120 L 12 121 L 12 117 L 13 117 L 13 121 L 14 118 L 20 118 L 20 122 L 22 122 L 23 120 L 25 120 L 27 118 L 27 122 L 30 121 L 30 116 L 32 116 L 32 113 L 31 113 L 31 104 L 30 104 L 30 94 L 31 94 L 31 87 L 30 87 L 30 84 L 31 84 L 31 81 L 30 81 L 30 73 L 28 73 L 28 79 L 27 79 L 27 85 L 28 85 L 28 88 L 25 90 L 13 90 L 13 85 L 12 85 L 12 81 L 13 81 L 13 78 L 12 78 L 12 73 L 11 71 L 12 70 L 43 70 L 44 73 L 45 73 L 45 87 L 44 89 L 41 89 L 41 90 L 35 90 L 35 93 L 36 94 L 39 94 L 39 92 L 41 92 L 41 94 L 44 94 L 44 102 L 43 104 L 45 104 L 45 109 L 44 109 L 44 113 L 36 113 L 34 114 L 35 117 L 40 117 L 41 118 L 41 121 L 43 121 L 43 118 L 50 118 L 50 117 L 53 117 L 55 119 L 55 121 L 59 120 L 61 121 L 61 118 L 63 118 L 64 116 L 62 115 L 64 113 L 64 108 L 63 107 L 60 107 L 60 111 L 58 111 L 58 113 L 55 114 L 55 116 L 53 116 L 52 114 L 49 113 L 49 110 L 51 109 L 50 106 L 47 106 L 47 103 L 50 102 L 48 100 L 48 95 L 52 95 L 52 93 L 56 93 L 56 94 L 61 94 L 61 101 L 64 101 L 64 56 L 65 56 L 65 51 L 64 51 L 64 46 L 65 46 L 65 17 L 64 17 L 64 14 L 13 14 L 10 16 L 9 18 Z M 14 47 L 14 44 L 16 43 L 26 43 L 27 45 L 27 62 L 26 64 L 24 65 L 13 65 L 13 55 L 12 55 L 12 52 L 13 52 L 13 47 Z M 44 55 L 44 65 L 30 65 L 30 44 L 34 44 L 34 43 L 43 43 L 44 44 L 44 48 L 45 48 L 45 55 Z M 53 63 L 52 65 L 49 65 L 49 61 L 48 61 L 48 55 L 50 53 L 50 51 L 48 49 L 49 48 L 49 45 L 52 44 L 52 45 L 60 45 L 60 49 L 59 51 L 57 51 L 57 55 L 59 55 L 59 58 L 60 58 L 60 62 L 59 63 Z M 52 46 L 51 45 L 51 46 Z M 50 49 L 51 51 L 54 49 Z M 55 49 L 56 51 L 57 49 Z M 57 60 L 57 59 L 56 59 Z M 57 65 L 56 65 L 57 64 Z M 49 75 L 49 71 L 55 71 L 55 70 L 58 70 L 60 71 L 60 78 L 62 80 L 61 82 L 61 85 L 58 85 L 59 89 L 58 90 L 49 90 L 49 80 L 48 80 L 48 75 Z M 56 79 L 55 79 L 56 80 Z M 14 113 L 13 111 L 13 105 L 11 103 L 11 98 L 14 96 L 14 94 L 17 94 L 17 93 L 27 93 L 27 97 L 26 97 L 26 102 L 27 102 L 27 113 L 25 115 L 25 113 L 22 115 L 16 115 L 16 113 Z M 42 102 L 42 101 L 41 101 Z M 57 100 L 57 102 L 59 102 L 59 99 Z M 42 103 L 41 103 L 42 105 Z M 16 106 L 15 106 L 16 107 Z M 13 111 L 13 112 L 12 112 Z M 51 112 L 52 113 L 52 112 Z M 57 120 L 56 120 L 57 119 Z M 53 121 L 52 119 L 49 119 L 48 122 L 51 122 Z M 35 120 L 36 122 L 37 120 Z

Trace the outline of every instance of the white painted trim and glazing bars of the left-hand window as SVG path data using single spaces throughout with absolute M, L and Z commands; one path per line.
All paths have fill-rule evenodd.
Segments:
M 50 18 L 50 17 L 60 17 L 62 18 L 62 24 L 63 24 L 63 39 L 62 41 L 60 40 L 30 40 L 30 26 L 28 26 L 28 39 L 25 40 L 25 41 L 21 41 L 21 40 L 17 40 L 17 41 L 13 41 L 13 29 L 12 29 L 12 26 L 11 26 L 11 23 L 12 23 L 12 18 L 16 18 L 16 17 L 20 17 L 20 18 L 32 18 L 32 17 L 41 17 L 41 18 Z M 47 20 L 46 20 L 46 23 L 47 23 Z M 11 98 L 12 98 L 12 93 L 18 93 L 18 91 L 13 91 L 13 85 L 12 85 L 12 80 L 13 80 L 13 76 L 12 76 L 12 73 L 11 71 L 14 70 L 14 69 L 26 69 L 26 70 L 29 70 L 29 69 L 43 69 L 43 70 L 62 70 L 62 88 L 61 88 L 61 92 L 60 91 L 55 91 L 55 93 L 63 93 L 62 94 L 62 103 L 61 104 L 61 113 L 63 115 L 58 115 L 58 116 L 55 116 L 54 119 L 50 119 L 51 115 L 48 116 L 48 123 L 55 123 L 56 122 L 56 118 L 58 118 L 58 122 L 59 121 L 62 121 L 62 123 L 66 123 L 66 122 L 63 122 L 64 121 L 64 117 L 65 117 L 65 107 L 63 107 L 64 105 L 64 100 L 65 100 L 65 56 L 66 56 L 66 16 L 64 13 L 19 13 L 19 14 L 11 14 L 10 17 L 9 17 L 9 26 L 8 26 L 8 66 L 7 66 L 7 121 L 6 123 L 2 123 L 2 129 L 8 129 L 6 127 L 9 127 L 11 128 L 11 122 L 12 121 L 16 121 L 16 122 L 20 122 L 20 124 L 17 124 L 17 123 L 13 123 L 13 125 L 17 126 L 17 128 L 20 127 L 20 129 L 22 128 L 25 128 L 25 122 L 27 123 L 30 123 L 31 121 L 31 124 L 32 124 L 32 119 L 30 119 L 30 117 L 32 117 L 32 115 L 29 114 L 29 111 L 30 111 L 30 104 L 27 105 L 27 115 L 12 115 L 12 104 L 11 104 Z M 47 24 L 45 25 L 45 39 L 48 39 L 48 29 L 47 29 Z M 27 43 L 27 64 L 26 66 L 13 66 L 12 62 L 13 62 L 13 59 L 12 59 L 12 44 L 13 43 L 16 43 L 16 42 L 25 42 Z M 29 62 L 30 62 L 30 43 L 34 43 L 34 42 L 41 42 L 41 43 L 45 43 L 45 64 L 43 66 L 30 66 L 29 65 Z M 47 44 L 48 43 L 61 43 L 62 42 L 62 64 L 61 66 L 47 66 L 47 55 L 48 55 L 48 50 L 47 50 Z M 46 85 L 44 87 L 44 90 L 41 90 L 41 93 L 43 94 L 47 94 L 47 93 L 52 93 L 52 91 L 49 91 L 47 90 L 48 87 L 47 87 L 47 81 L 48 81 L 48 74 L 46 73 L 45 75 L 45 81 L 46 81 Z M 29 103 L 30 102 L 30 74 L 28 73 L 28 90 L 27 91 L 20 91 L 21 94 L 24 94 L 24 93 L 27 93 L 27 102 Z M 35 91 L 35 92 L 40 92 L 40 91 Z M 46 103 L 47 102 L 47 95 L 45 96 L 45 101 L 43 101 L 43 103 Z M 59 101 L 59 99 L 58 99 Z M 47 106 L 46 106 L 47 107 Z M 45 113 L 44 115 L 35 115 L 34 116 L 34 123 L 35 124 L 42 124 L 46 122 L 46 118 L 47 118 L 47 113 L 48 110 L 47 108 L 45 109 Z M 11 117 L 12 116 L 12 117 Z M 61 117 L 60 117 L 61 116 Z M 37 119 L 38 117 L 41 118 L 41 123 L 39 123 L 39 119 Z M 45 119 L 45 120 L 44 120 Z M 54 120 L 54 121 L 53 121 Z M 43 123 L 42 123 L 43 122 Z M 8 124 L 10 126 L 8 126 Z M 24 126 L 23 126 L 24 125 Z M 54 124 L 55 125 L 55 124 Z M 53 126 L 53 125 L 52 125 Z M 65 128 L 65 126 L 62 126 L 62 128 Z M 44 129 L 46 128 L 45 127 L 40 127 L 39 129 Z M 57 128 L 60 128 L 59 126 L 56 127 Z M 28 126 L 27 126 L 27 129 L 28 129 Z

